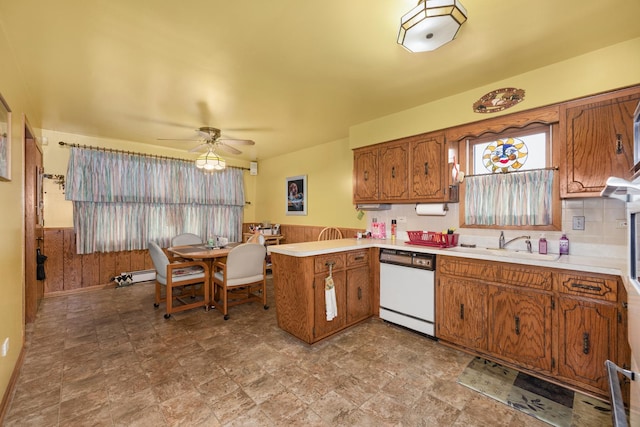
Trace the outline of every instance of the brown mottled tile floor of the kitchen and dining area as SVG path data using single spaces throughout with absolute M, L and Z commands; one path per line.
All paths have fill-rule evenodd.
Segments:
M 378 319 L 310 346 L 278 328 L 269 300 L 224 321 L 165 320 L 151 283 L 45 299 L 4 423 L 546 425 L 459 385 L 469 355 Z

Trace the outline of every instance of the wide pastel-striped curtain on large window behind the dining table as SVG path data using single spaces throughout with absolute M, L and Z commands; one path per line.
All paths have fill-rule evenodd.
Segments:
M 238 168 L 206 174 L 189 161 L 72 147 L 66 182 L 78 254 L 166 247 L 187 232 L 242 238 Z

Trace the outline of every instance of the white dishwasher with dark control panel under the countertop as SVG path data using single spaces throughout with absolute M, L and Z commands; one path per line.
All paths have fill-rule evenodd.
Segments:
M 380 250 L 380 318 L 435 337 L 436 256 Z

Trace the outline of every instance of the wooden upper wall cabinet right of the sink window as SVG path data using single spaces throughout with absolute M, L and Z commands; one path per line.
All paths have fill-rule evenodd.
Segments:
M 633 113 L 640 87 L 567 102 L 560 107 L 560 196 L 599 196 L 607 178 L 630 179 Z

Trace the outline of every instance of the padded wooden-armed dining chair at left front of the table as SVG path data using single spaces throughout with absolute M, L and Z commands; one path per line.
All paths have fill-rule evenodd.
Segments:
M 209 269 L 203 261 L 170 262 L 155 242 L 149 242 L 149 254 L 156 269 L 156 292 L 153 306 L 165 303 L 164 318 L 196 307 L 209 308 Z M 197 286 L 201 285 L 201 286 Z M 164 288 L 164 295 L 162 289 Z M 202 299 L 195 300 L 202 295 Z M 189 297 L 187 302 L 184 298 Z M 180 305 L 175 305 L 178 301 Z

